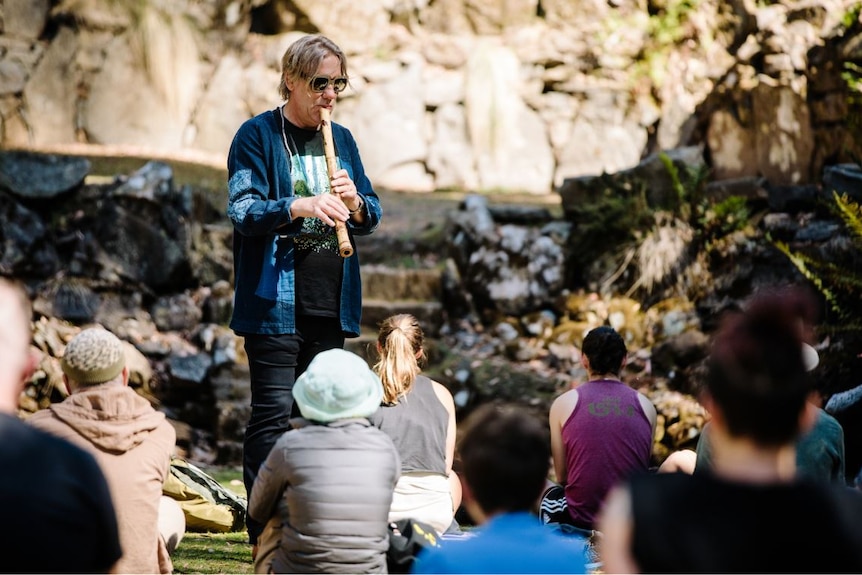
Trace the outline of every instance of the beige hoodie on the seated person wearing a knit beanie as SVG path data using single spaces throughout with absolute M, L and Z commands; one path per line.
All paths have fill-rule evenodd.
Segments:
M 102 467 L 123 547 L 117 572 L 170 573 L 158 513 L 176 433 L 164 414 L 129 387 L 97 385 L 27 421 L 90 451 Z

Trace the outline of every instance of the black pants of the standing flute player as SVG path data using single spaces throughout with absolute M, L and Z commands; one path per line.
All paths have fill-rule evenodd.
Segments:
M 299 417 L 293 401 L 293 383 L 315 355 L 343 348 L 344 334 L 338 318 L 300 316 L 296 333 L 245 335 L 245 352 L 251 377 L 251 416 L 243 442 L 243 482 L 251 490 L 260 465 L 272 446 L 290 429 L 291 417 Z M 263 524 L 246 517 L 249 542 L 257 542 Z

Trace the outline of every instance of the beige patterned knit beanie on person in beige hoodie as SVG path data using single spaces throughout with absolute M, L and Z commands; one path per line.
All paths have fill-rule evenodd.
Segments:
M 80 385 L 96 385 L 117 377 L 126 365 L 123 342 L 102 328 L 85 329 L 66 345 L 63 373 Z

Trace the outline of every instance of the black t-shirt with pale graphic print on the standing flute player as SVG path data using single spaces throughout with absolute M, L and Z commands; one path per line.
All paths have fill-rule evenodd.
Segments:
M 284 127 L 294 194 L 308 197 L 329 192 L 321 133 L 287 121 Z M 294 248 L 297 315 L 338 317 L 344 259 L 338 253 L 335 228 L 318 218 L 305 218 Z

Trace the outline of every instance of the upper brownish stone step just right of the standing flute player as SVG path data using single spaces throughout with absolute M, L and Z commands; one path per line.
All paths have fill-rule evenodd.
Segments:
M 396 268 L 382 264 L 362 266 L 363 300 L 440 301 L 441 270 Z

